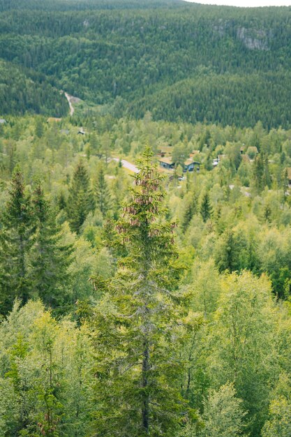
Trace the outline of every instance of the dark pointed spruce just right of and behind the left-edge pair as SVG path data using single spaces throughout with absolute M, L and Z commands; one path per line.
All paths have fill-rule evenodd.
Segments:
M 80 232 L 80 228 L 87 215 L 94 209 L 94 197 L 90 188 L 90 179 L 82 161 L 77 163 L 73 181 L 69 188 L 67 205 L 70 228 L 73 232 Z

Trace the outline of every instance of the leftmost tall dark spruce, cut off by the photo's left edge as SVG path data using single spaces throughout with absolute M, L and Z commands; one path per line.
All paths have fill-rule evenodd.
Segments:
M 33 226 L 30 199 L 18 165 L 13 172 L 1 225 L 1 312 L 6 313 L 15 297 L 20 297 L 23 303 L 29 299 L 27 254 L 32 244 Z

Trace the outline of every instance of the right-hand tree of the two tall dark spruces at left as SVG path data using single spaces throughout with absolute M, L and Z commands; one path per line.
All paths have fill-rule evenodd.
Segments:
M 54 211 L 37 182 L 32 196 L 36 232 L 30 254 L 31 292 L 56 308 L 68 302 L 68 266 L 72 247 L 61 244 L 61 229 Z

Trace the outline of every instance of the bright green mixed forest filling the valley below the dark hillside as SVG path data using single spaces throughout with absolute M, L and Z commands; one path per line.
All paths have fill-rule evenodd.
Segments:
M 291 131 L 26 116 L 0 146 L 0 434 L 289 436 Z

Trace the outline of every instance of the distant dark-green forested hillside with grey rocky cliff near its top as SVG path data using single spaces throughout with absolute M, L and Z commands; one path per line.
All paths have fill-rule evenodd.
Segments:
M 41 73 L 43 86 L 120 117 L 151 110 L 154 119 L 169 121 L 290 126 L 290 8 L 113 0 L 1 5 L 0 58 Z

